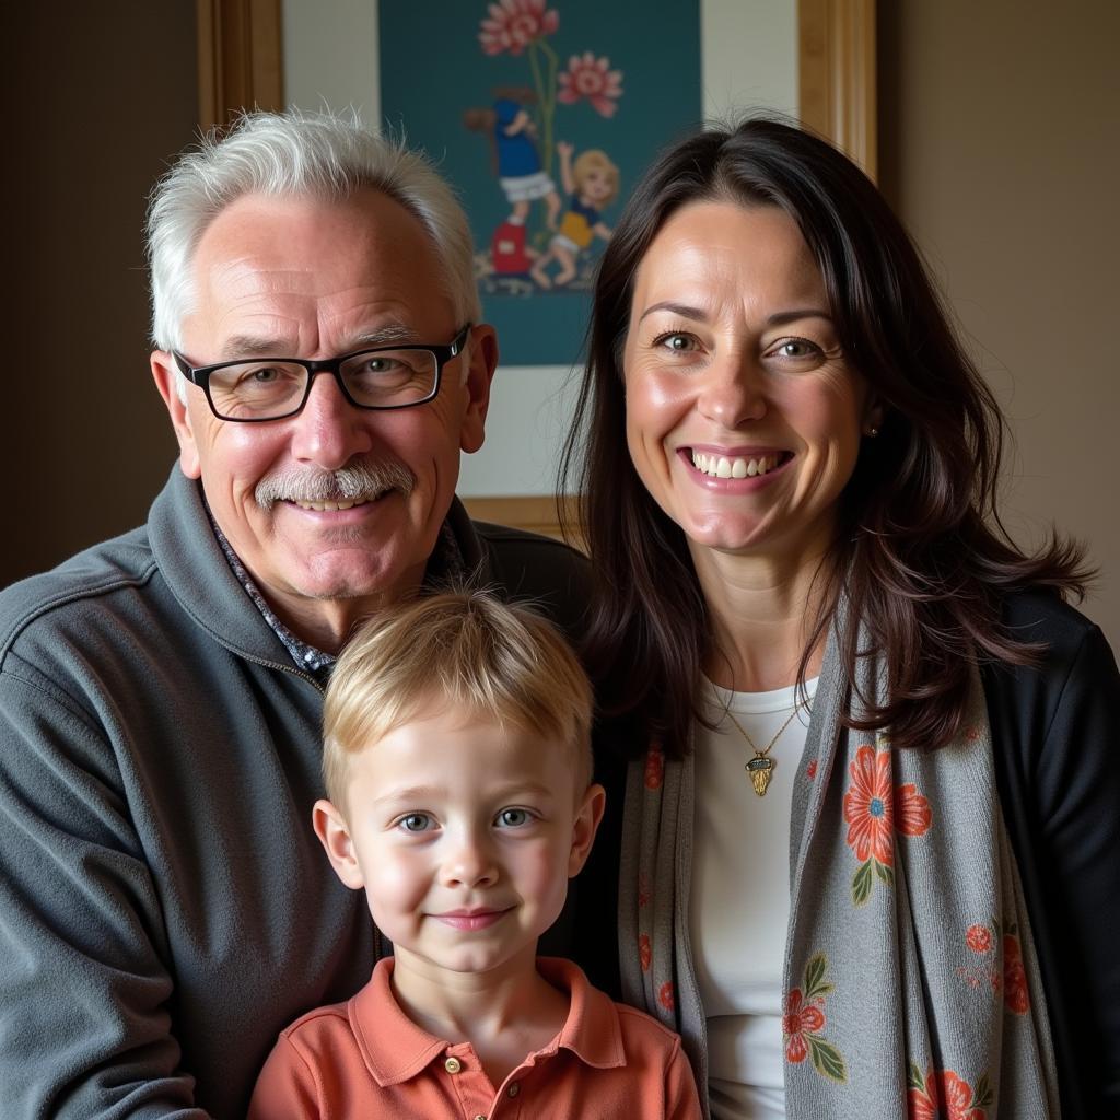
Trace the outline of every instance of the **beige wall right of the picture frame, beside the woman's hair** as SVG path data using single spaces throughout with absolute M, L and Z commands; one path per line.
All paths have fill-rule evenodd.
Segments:
M 1120 4 L 879 0 L 880 184 L 1011 421 L 1006 508 L 1120 648 Z

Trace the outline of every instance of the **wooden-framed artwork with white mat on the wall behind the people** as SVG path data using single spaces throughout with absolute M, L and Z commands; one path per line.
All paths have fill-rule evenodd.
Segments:
M 875 0 L 199 0 L 198 11 L 203 123 L 254 103 L 354 105 L 370 123 L 403 124 L 460 190 L 502 351 L 486 446 L 464 458 L 458 487 L 485 520 L 556 530 L 587 277 L 618 199 L 663 144 L 700 119 L 776 108 L 875 176 Z M 607 186 L 588 186 L 588 161 L 576 175 L 587 151 L 616 169 L 617 197 L 606 162 Z M 582 216 L 567 218 L 573 197 Z M 566 220 L 577 235 L 557 252 Z

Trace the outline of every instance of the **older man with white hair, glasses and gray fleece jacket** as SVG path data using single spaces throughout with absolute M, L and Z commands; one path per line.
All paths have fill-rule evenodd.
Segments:
M 2 1117 L 243 1114 L 381 948 L 310 828 L 335 654 L 445 580 L 582 601 L 572 552 L 455 498 L 497 346 L 421 158 L 255 114 L 149 234 L 178 469 L 147 525 L 0 596 Z

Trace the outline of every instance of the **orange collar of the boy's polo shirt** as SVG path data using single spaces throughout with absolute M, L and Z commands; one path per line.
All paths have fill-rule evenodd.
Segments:
M 524 1064 L 553 1057 L 562 1047 L 586 1065 L 609 1070 L 626 1064 L 622 1025 L 614 1001 L 588 983 L 582 970 L 571 961 L 541 956 L 536 968 L 549 983 L 566 992 L 568 1018 L 548 1046 L 528 1055 Z M 460 1051 L 463 1043 L 437 1038 L 417 1026 L 393 996 L 390 977 L 393 959 L 377 962 L 370 982 L 347 1001 L 346 1015 L 357 1039 L 362 1058 L 379 1085 L 396 1085 L 417 1076 L 431 1062 Z

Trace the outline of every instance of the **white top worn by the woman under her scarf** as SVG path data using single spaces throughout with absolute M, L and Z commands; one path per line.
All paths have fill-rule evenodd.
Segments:
M 811 701 L 816 678 L 805 682 Z M 782 963 L 790 921 L 790 815 L 809 712 L 802 706 L 769 757 L 759 797 L 744 768 L 793 712 L 795 685 L 730 692 L 704 682 L 696 756 L 696 828 L 689 933 L 708 1017 L 708 1090 L 715 1120 L 784 1120 Z

